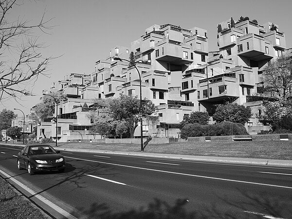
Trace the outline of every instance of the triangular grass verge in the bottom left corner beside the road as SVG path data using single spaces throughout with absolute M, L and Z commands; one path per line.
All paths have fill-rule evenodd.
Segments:
M 0 177 L 0 219 L 48 219 Z

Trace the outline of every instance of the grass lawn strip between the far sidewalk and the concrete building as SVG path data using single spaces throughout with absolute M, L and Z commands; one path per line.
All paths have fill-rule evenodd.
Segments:
M 54 144 L 54 143 L 53 143 Z M 55 145 L 52 145 L 55 146 Z M 85 148 L 110 151 L 140 152 L 138 144 L 105 143 L 59 143 L 59 147 Z M 170 144 L 148 144 L 148 153 L 181 154 L 193 156 L 218 156 L 292 160 L 290 141 L 244 141 L 244 142 L 178 142 Z

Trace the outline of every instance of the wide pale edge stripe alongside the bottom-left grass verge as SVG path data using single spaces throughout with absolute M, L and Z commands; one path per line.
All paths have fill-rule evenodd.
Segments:
M 64 217 L 66 217 L 68 219 L 77 219 L 73 215 L 71 215 L 70 213 L 68 213 L 67 211 L 65 211 L 62 208 L 60 208 L 59 206 L 55 205 L 53 202 L 47 200 L 46 198 L 42 197 L 41 195 L 38 195 L 37 192 L 35 192 L 34 190 L 30 189 L 26 185 L 20 183 L 18 180 L 14 179 L 12 176 L 8 175 L 7 173 L 3 172 L 2 170 L 0 170 L 0 173 L 3 174 L 5 177 L 9 178 L 9 180 L 11 180 L 14 183 L 18 184 L 21 188 L 25 189 L 27 192 L 29 192 L 30 194 L 32 194 L 38 200 L 46 203 L 48 206 L 50 206 L 51 208 L 53 208 L 55 211 L 57 211 L 58 213 L 60 213 Z

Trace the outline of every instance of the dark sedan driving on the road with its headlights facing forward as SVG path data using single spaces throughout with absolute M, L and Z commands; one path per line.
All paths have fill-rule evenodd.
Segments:
M 25 146 L 17 156 L 18 169 L 27 169 L 29 175 L 38 171 L 65 169 L 65 159 L 50 145 Z

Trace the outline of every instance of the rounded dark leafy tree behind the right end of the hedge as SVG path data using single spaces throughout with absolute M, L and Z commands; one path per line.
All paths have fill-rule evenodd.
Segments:
M 221 104 L 217 105 L 215 113 L 213 114 L 213 120 L 216 123 L 224 121 L 245 124 L 251 118 L 252 112 L 249 107 L 238 104 Z

